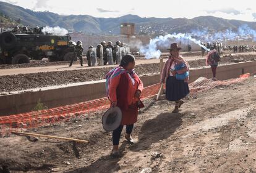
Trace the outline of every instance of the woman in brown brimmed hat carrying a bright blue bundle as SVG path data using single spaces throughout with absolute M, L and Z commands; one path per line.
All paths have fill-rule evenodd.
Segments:
M 166 82 L 166 99 L 176 103 L 173 113 L 178 113 L 184 103 L 181 99 L 189 94 L 189 63 L 179 55 L 181 47 L 177 43 L 171 44 L 168 50 L 170 55 L 164 64 L 161 83 Z

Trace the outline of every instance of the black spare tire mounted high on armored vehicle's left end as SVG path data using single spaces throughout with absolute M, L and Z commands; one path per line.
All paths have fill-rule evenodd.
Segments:
M 0 35 L 0 46 L 4 49 L 12 49 L 16 45 L 16 37 L 10 32 L 4 32 Z

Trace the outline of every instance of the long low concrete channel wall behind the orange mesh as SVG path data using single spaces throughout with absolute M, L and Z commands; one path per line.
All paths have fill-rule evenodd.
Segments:
M 256 62 L 223 65 L 219 66 L 217 69 L 217 78 L 221 80 L 237 78 L 243 73 L 254 73 L 255 71 Z M 210 68 L 192 69 L 190 70 L 190 82 L 202 76 L 211 78 L 211 75 Z M 140 78 L 144 86 L 150 86 L 160 81 L 160 74 L 141 76 Z M 29 91 L 31 91 L 31 89 Z M 44 87 L 35 89 L 33 92 L 1 95 L 0 116 L 32 111 L 39 99 L 41 99 L 41 102 L 45 103 L 48 108 L 54 108 L 99 99 L 101 97 L 106 97 L 105 80 L 75 83 L 66 86 Z

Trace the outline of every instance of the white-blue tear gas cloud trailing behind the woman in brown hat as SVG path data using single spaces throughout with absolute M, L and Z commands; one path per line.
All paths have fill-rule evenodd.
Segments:
M 256 31 L 252 30 L 248 25 L 242 25 L 238 28 L 237 32 L 232 30 L 220 31 L 217 33 L 210 34 L 210 32 L 206 30 L 202 31 L 192 31 L 192 33 L 174 33 L 174 34 L 166 34 L 165 36 L 158 36 L 155 39 L 151 39 L 150 43 L 147 46 L 140 47 L 140 52 L 145 54 L 145 58 L 159 58 L 161 55 L 161 51 L 158 47 L 168 47 L 171 44 L 171 39 L 176 39 L 176 41 L 190 41 L 194 42 L 198 46 L 202 47 L 203 49 L 207 50 L 207 47 L 203 46 L 202 42 L 198 39 L 192 38 L 195 36 L 200 40 L 207 41 L 207 42 L 214 42 L 214 41 L 224 41 L 224 40 L 231 40 L 234 39 L 249 39 L 252 38 L 256 41 Z

